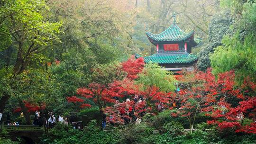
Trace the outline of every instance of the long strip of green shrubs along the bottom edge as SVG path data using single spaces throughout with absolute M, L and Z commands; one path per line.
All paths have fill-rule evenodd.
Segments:
M 175 122 L 173 121 L 173 124 Z M 86 130 L 73 130 L 66 126 L 55 126 L 49 133 L 43 135 L 41 144 L 255 144 L 255 135 L 236 135 L 218 132 L 196 131 L 187 133 L 179 130 L 179 124 L 165 125 L 168 132 L 153 132 L 147 124 L 130 125 L 102 131 L 92 121 Z

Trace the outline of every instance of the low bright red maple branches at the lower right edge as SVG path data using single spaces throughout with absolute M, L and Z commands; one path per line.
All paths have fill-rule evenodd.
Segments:
M 256 123 L 243 125 L 244 119 L 255 117 L 256 115 L 256 98 L 247 98 L 240 101 L 237 107 L 232 108 L 229 103 L 222 102 L 221 107 L 212 109 L 212 121 L 208 124 L 217 124 L 220 129 L 231 128 L 236 132 L 254 133 L 256 134 Z

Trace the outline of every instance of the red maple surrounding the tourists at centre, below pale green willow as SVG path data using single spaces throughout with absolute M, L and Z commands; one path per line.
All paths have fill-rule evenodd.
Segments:
M 158 111 L 157 106 L 169 103 L 170 95 L 166 92 L 159 91 L 157 87 L 148 87 L 146 90 L 141 90 L 141 85 L 134 84 L 134 81 L 125 79 L 124 81 L 115 81 L 111 84 L 111 90 L 119 99 L 113 107 L 107 107 L 105 112 L 110 114 L 107 120 L 112 123 L 123 124 L 124 119 L 130 121 L 133 117 L 143 117 L 145 113 L 155 114 Z M 150 90 L 149 90 L 150 88 Z M 111 118 L 110 118 L 111 117 Z

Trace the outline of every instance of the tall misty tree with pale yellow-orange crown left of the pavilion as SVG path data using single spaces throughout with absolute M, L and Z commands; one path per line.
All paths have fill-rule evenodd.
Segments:
M 50 57 L 65 61 L 64 54 L 81 57 L 88 72 L 96 63 L 120 60 L 130 53 L 132 14 L 112 0 L 49 0 L 53 21 L 62 21 L 59 39 Z M 82 55 L 81 55 L 82 54 Z

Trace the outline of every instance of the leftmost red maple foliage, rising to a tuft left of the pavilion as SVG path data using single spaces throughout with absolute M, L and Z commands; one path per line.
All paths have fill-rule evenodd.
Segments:
M 82 98 L 77 98 L 76 96 L 67 97 L 68 102 L 80 102 L 82 104 L 80 107 L 84 108 L 91 106 L 84 103 L 85 99 L 91 99 L 101 109 L 106 108 L 107 104 L 114 103 L 116 99 L 138 93 L 138 86 L 134 84 L 133 80 L 137 78 L 137 74 L 142 72 L 144 68 L 143 58 L 135 59 L 133 56 L 121 64 L 122 71 L 127 72 L 127 78 L 122 81 L 114 81 L 107 86 L 100 83 L 91 83 L 88 88 L 77 89 L 77 95 Z

